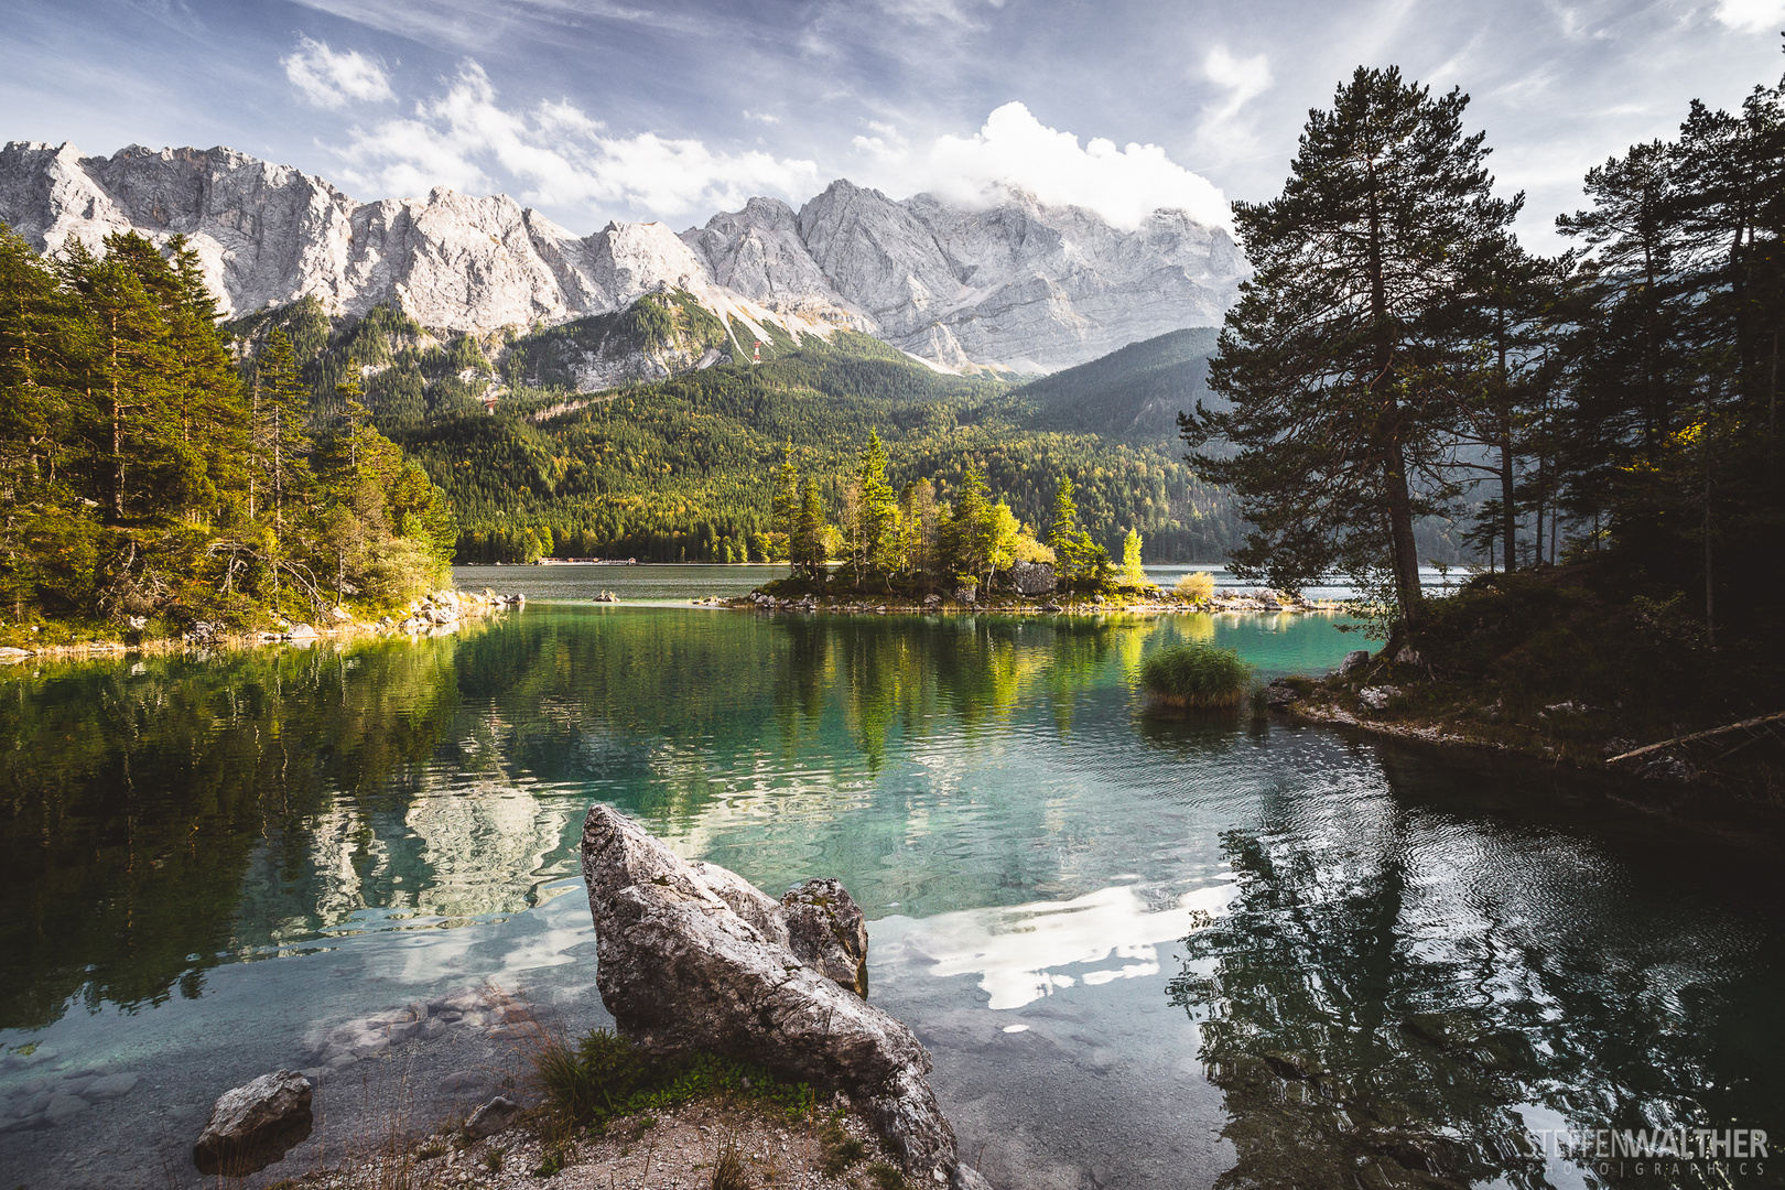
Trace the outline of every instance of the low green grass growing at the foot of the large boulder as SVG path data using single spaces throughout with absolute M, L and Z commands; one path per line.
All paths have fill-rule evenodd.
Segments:
M 534 1083 L 562 1131 L 714 1095 L 755 1099 L 791 1117 L 810 1113 L 816 1103 L 809 1083 L 784 1083 L 755 1063 L 709 1053 L 652 1058 L 607 1029 L 591 1031 L 575 1049 L 546 1038 L 534 1054 Z

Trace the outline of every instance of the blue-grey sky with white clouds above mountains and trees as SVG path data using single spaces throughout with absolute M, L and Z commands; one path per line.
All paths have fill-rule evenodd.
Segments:
M 1133 227 L 1278 193 L 1360 66 L 1471 96 L 1521 237 L 1692 98 L 1785 73 L 1785 0 L 9 0 L 0 139 L 227 145 L 361 200 L 677 230 L 832 178 Z

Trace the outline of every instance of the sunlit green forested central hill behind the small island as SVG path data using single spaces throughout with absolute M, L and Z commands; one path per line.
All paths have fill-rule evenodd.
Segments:
M 566 394 L 536 391 L 494 414 L 393 430 L 452 496 L 461 560 L 759 558 L 784 453 L 801 475 L 830 476 L 835 507 L 871 428 L 887 444 L 894 487 L 937 478 L 948 500 L 978 462 L 1032 526 L 1069 475 L 1100 542 L 1139 528 L 1150 557 L 1201 560 L 1221 557 L 1235 533 L 1219 492 L 1191 476 L 1175 444 L 1041 428 L 1021 389 L 939 375 L 866 335 L 568 403 L 552 414 Z

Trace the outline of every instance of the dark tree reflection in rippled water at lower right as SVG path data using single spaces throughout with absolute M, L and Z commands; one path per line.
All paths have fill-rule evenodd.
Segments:
M 1776 1040 L 1753 1045 L 1764 928 L 1701 887 L 1633 887 L 1555 822 L 1330 792 L 1223 835 L 1239 894 L 1169 985 L 1230 1115 L 1219 1186 L 1598 1185 L 1528 1129 L 1785 1119 Z M 1744 1185 L 1708 1163 L 1637 1181 Z

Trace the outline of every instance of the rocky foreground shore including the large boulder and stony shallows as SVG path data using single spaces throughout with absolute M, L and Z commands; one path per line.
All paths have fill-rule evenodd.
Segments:
M 928 1051 L 866 999 L 866 919 L 839 881 L 814 878 L 776 901 L 728 869 L 682 860 L 600 803 L 584 824 L 582 872 L 596 988 L 634 1053 L 744 1062 L 787 1079 L 796 1106 L 753 1095 L 744 1078 L 743 1090 L 566 1131 L 544 1076 L 553 1047 L 571 1053 L 564 1031 L 516 990 L 461 987 L 318 1022 L 298 1069 L 218 1097 L 191 1161 L 241 1185 L 318 1190 L 705 1188 L 719 1185 L 721 1161 L 744 1176 L 728 1186 L 991 1190 L 957 1149 Z M 423 1053 L 434 1056 L 418 1063 Z M 20 1088 L 29 1099 L 0 1104 L 0 1131 L 54 1128 L 141 1079 L 64 1072 L 46 1049 L 0 1056 L 34 1062 L 45 1078 Z

